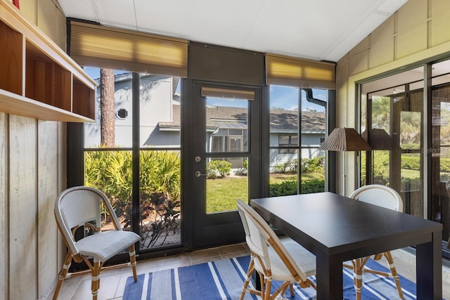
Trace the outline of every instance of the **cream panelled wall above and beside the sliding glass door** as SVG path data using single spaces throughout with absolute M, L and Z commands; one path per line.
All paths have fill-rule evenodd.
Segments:
M 420 60 L 450 55 L 450 1 L 409 0 L 343 57 L 336 68 L 337 126 L 356 126 L 356 81 Z M 354 153 L 338 152 L 338 170 L 347 155 L 347 191 L 354 190 Z M 342 177 L 337 176 L 342 193 Z

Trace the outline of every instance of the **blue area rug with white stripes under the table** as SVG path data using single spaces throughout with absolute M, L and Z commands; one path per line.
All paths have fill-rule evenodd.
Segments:
M 210 263 L 201 263 L 154 273 L 138 275 L 138 281 L 127 279 L 123 300 L 200 300 L 200 299 L 239 299 L 247 272 L 250 256 L 223 259 Z M 379 263 L 370 260 L 368 268 L 387 270 Z M 353 273 L 344 268 L 344 299 L 355 299 Z M 400 284 L 405 299 L 416 299 L 416 284 L 400 276 Z M 273 282 L 279 287 L 281 282 Z M 286 292 L 286 299 L 316 299 L 316 290 L 312 287 L 302 289 L 295 285 L 295 297 Z M 364 273 L 362 299 L 400 299 L 392 278 Z M 245 299 L 259 299 L 255 295 L 245 294 Z

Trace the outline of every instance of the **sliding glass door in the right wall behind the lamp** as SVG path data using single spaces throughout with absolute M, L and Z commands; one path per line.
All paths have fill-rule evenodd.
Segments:
M 361 185 L 390 185 L 404 212 L 442 223 L 450 258 L 450 61 L 369 81 L 361 91 L 361 131 L 373 146 L 362 156 Z

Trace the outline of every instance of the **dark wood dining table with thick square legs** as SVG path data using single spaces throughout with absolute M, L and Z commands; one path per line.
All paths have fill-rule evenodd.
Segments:
M 317 299 L 343 299 L 344 261 L 415 246 L 417 299 L 442 300 L 442 224 L 328 192 L 250 204 L 316 255 Z

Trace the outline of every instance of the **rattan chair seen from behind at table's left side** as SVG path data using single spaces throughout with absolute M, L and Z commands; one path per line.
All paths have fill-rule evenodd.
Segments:
M 278 295 L 283 296 L 288 287 L 290 287 L 291 296 L 294 296 L 292 284 L 295 282 L 300 287 L 316 289 L 314 282 L 307 278 L 316 275 L 316 256 L 296 242 L 281 243 L 264 219 L 240 199 L 238 199 L 238 211 L 251 254 L 240 300 L 244 299 L 246 292 L 257 294 L 263 300 L 276 299 Z M 259 273 L 261 291 L 248 287 L 255 270 Z M 283 282 L 273 294 L 271 294 L 272 280 Z

